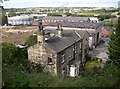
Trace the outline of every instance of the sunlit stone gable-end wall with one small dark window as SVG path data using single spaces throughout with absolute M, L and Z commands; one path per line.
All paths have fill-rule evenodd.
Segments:
M 48 58 L 52 59 L 52 64 L 48 64 Z M 28 59 L 33 63 L 41 64 L 44 71 L 50 72 L 52 75 L 57 75 L 57 55 L 45 45 L 36 44 L 28 48 Z

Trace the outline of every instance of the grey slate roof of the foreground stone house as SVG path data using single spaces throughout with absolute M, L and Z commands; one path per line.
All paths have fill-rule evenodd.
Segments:
M 58 53 L 80 40 L 82 40 L 82 38 L 80 38 L 74 31 L 64 31 L 62 37 L 56 36 L 48 39 L 46 40 L 45 45 Z

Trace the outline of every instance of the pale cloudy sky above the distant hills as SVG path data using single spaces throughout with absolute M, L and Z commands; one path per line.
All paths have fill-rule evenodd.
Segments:
M 120 0 L 9 0 L 4 8 L 26 7 L 118 7 Z

